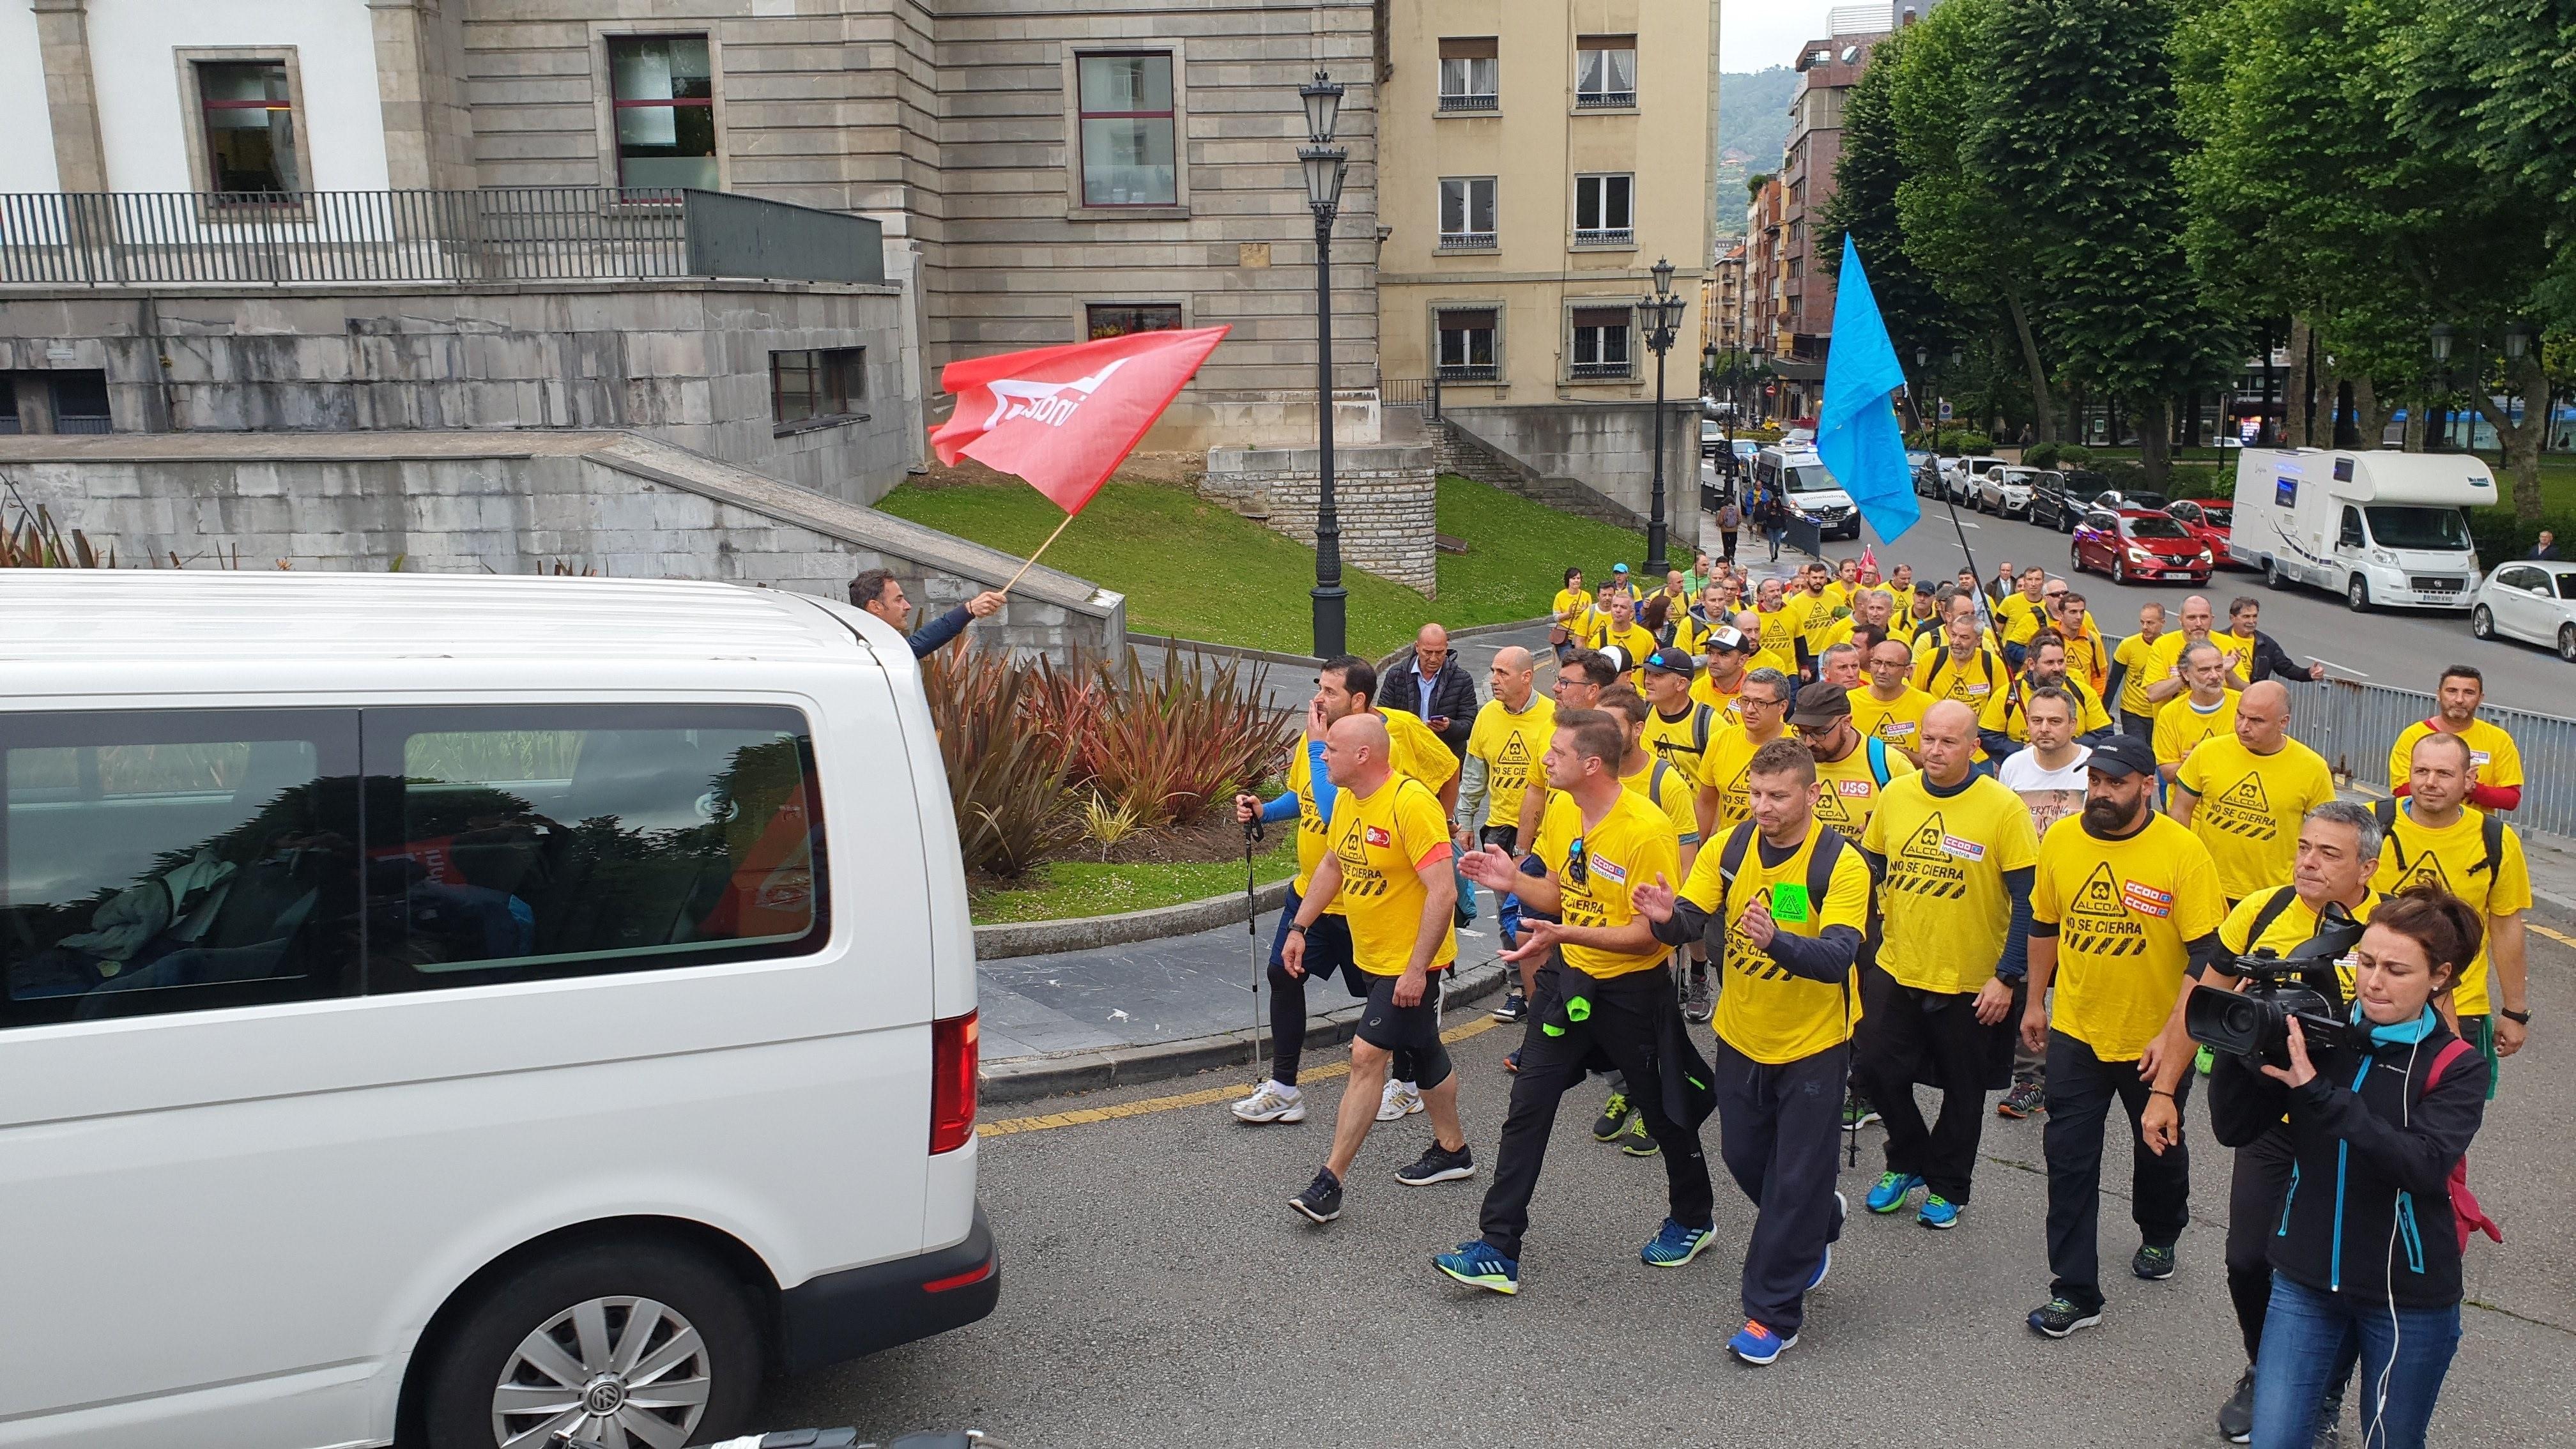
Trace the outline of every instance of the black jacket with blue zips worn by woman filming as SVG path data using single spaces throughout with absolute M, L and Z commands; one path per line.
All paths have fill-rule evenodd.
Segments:
M 2460 1302 L 2450 1168 L 2486 1116 L 2486 1057 L 2458 1055 L 2427 1093 L 2447 1042 L 2439 1026 L 2419 1044 L 2367 1052 L 2349 1039 L 2318 1047 L 2311 1034 L 2316 1078 L 2303 1088 L 2233 1055 L 2210 1067 L 2210 1127 L 2223 1145 L 2244 1147 L 2290 1116 L 2298 1165 L 2269 1238 L 2277 1274 L 2357 1305 Z

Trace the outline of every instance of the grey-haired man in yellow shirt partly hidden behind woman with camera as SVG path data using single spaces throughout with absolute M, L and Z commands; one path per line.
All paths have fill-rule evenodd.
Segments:
M 2272 951 L 2287 957 L 2313 936 L 2339 928 L 2329 923 L 2326 908 L 2342 908 L 2352 920 L 2370 920 L 2380 895 L 2370 890 L 2370 874 L 2380 859 L 2380 822 L 2370 810 L 2347 799 L 2329 799 L 2298 828 L 2298 856 L 2290 884 L 2246 895 L 2218 926 L 2218 944 L 2233 957 Z M 2236 977 L 2210 972 L 2210 985 L 2236 987 Z M 2329 1000 L 2342 1003 L 2344 987 L 2334 969 L 2308 977 L 2308 985 Z M 2172 1124 L 2169 1098 L 2146 1104 L 2148 1124 Z M 2218 1434 L 2244 1444 L 2254 1431 L 2254 1359 L 2262 1348 L 2264 1307 L 2272 1302 L 2272 1263 L 2264 1248 L 2280 1227 L 2280 1196 L 2290 1189 L 2290 1132 L 2277 1127 L 2236 1150 L 2236 1178 L 2228 1186 L 2228 1297 L 2236 1299 L 2236 1328 L 2244 1333 L 2246 1372 L 2236 1379 L 2236 1392 L 2218 1410 Z M 2342 1382 L 2334 1385 L 2324 1423 L 2334 1423 L 2342 1408 Z

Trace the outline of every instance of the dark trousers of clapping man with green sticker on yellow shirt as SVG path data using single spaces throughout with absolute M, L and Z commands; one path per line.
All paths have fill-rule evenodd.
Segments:
M 1739 987 L 1728 987 L 1739 990 Z M 1757 1062 L 1718 1039 L 1708 1065 L 1718 1075 L 1718 1155 L 1754 1201 L 1744 1243 L 1744 1318 L 1780 1338 L 1806 1323 L 1806 1284 L 1824 1248 L 1842 1238 L 1834 1178 L 1842 1150 L 1842 1080 L 1850 1042 L 1798 1057 Z

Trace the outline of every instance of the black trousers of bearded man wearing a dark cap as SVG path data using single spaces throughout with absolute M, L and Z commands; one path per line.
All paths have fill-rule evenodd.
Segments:
M 2192 1220 L 2192 1158 L 2174 1142 L 2159 1158 L 2138 1137 L 2148 1083 L 2138 1062 L 2105 1062 L 2063 1031 L 2048 1034 L 2048 1284 L 2053 1297 L 2092 1312 L 2102 1307 L 2102 1132 L 2110 1104 L 2128 1111 L 2130 1217 L 2151 1248 L 2172 1248 Z M 2192 1096 L 2192 1075 L 2174 1088 L 2174 1111 Z

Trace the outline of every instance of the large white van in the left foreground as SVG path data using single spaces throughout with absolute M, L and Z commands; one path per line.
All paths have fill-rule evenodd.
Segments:
M 992 1312 L 886 624 L 0 570 L 0 1444 L 698 1444 Z

